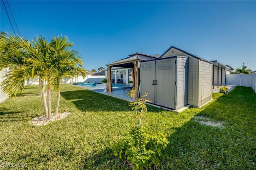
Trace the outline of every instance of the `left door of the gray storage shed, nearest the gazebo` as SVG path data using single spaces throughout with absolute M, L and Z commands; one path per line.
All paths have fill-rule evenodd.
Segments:
M 140 63 L 140 78 L 141 78 L 141 89 L 140 95 L 148 93 L 147 98 L 155 103 L 155 86 L 153 80 L 155 80 L 155 61 Z

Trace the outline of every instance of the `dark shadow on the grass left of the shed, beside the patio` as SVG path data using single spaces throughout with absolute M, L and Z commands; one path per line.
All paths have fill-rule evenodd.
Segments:
M 67 91 L 60 94 L 66 100 L 73 100 L 80 111 L 131 111 L 127 101 L 91 90 Z

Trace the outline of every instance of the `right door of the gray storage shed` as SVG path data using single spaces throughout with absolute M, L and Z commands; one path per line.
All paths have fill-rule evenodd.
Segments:
M 175 60 L 176 58 L 156 61 L 155 104 L 172 109 L 176 109 Z

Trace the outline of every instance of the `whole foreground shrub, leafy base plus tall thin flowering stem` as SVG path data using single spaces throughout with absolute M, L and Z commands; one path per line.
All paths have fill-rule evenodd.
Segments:
M 130 161 L 134 170 L 148 169 L 153 164 L 159 166 L 161 150 L 168 145 L 169 141 L 160 133 L 149 135 L 147 129 L 140 124 L 144 112 L 147 111 L 146 102 L 151 102 L 147 99 L 147 93 L 140 98 L 135 98 L 136 91 L 133 88 L 128 94 L 133 98 L 130 106 L 136 112 L 134 115 L 136 126 L 112 147 L 113 154 Z

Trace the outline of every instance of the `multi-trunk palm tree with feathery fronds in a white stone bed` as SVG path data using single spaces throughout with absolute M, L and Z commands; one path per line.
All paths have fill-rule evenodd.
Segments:
M 26 79 L 38 76 L 42 89 L 45 117 L 51 119 L 51 84 L 54 84 L 54 90 L 58 91 L 56 104 L 56 111 L 58 112 L 61 78 L 70 74 L 71 70 L 79 70 L 85 76 L 85 71 L 76 66 L 76 64 L 82 66 L 82 60 L 78 57 L 78 52 L 67 49 L 72 45 L 73 43 L 70 43 L 66 37 L 63 39 L 53 37 L 50 43 L 42 36 L 36 37 L 32 43 L 22 37 L 9 34 L 8 37 L 1 37 L 1 53 L 2 49 L 5 49 L 6 53 L 1 55 L 0 69 L 10 64 L 19 66 L 12 69 L 8 78 L 1 83 L 3 92 L 15 97 L 18 90 L 24 89 Z M 46 81 L 48 105 L 44 92 Z

